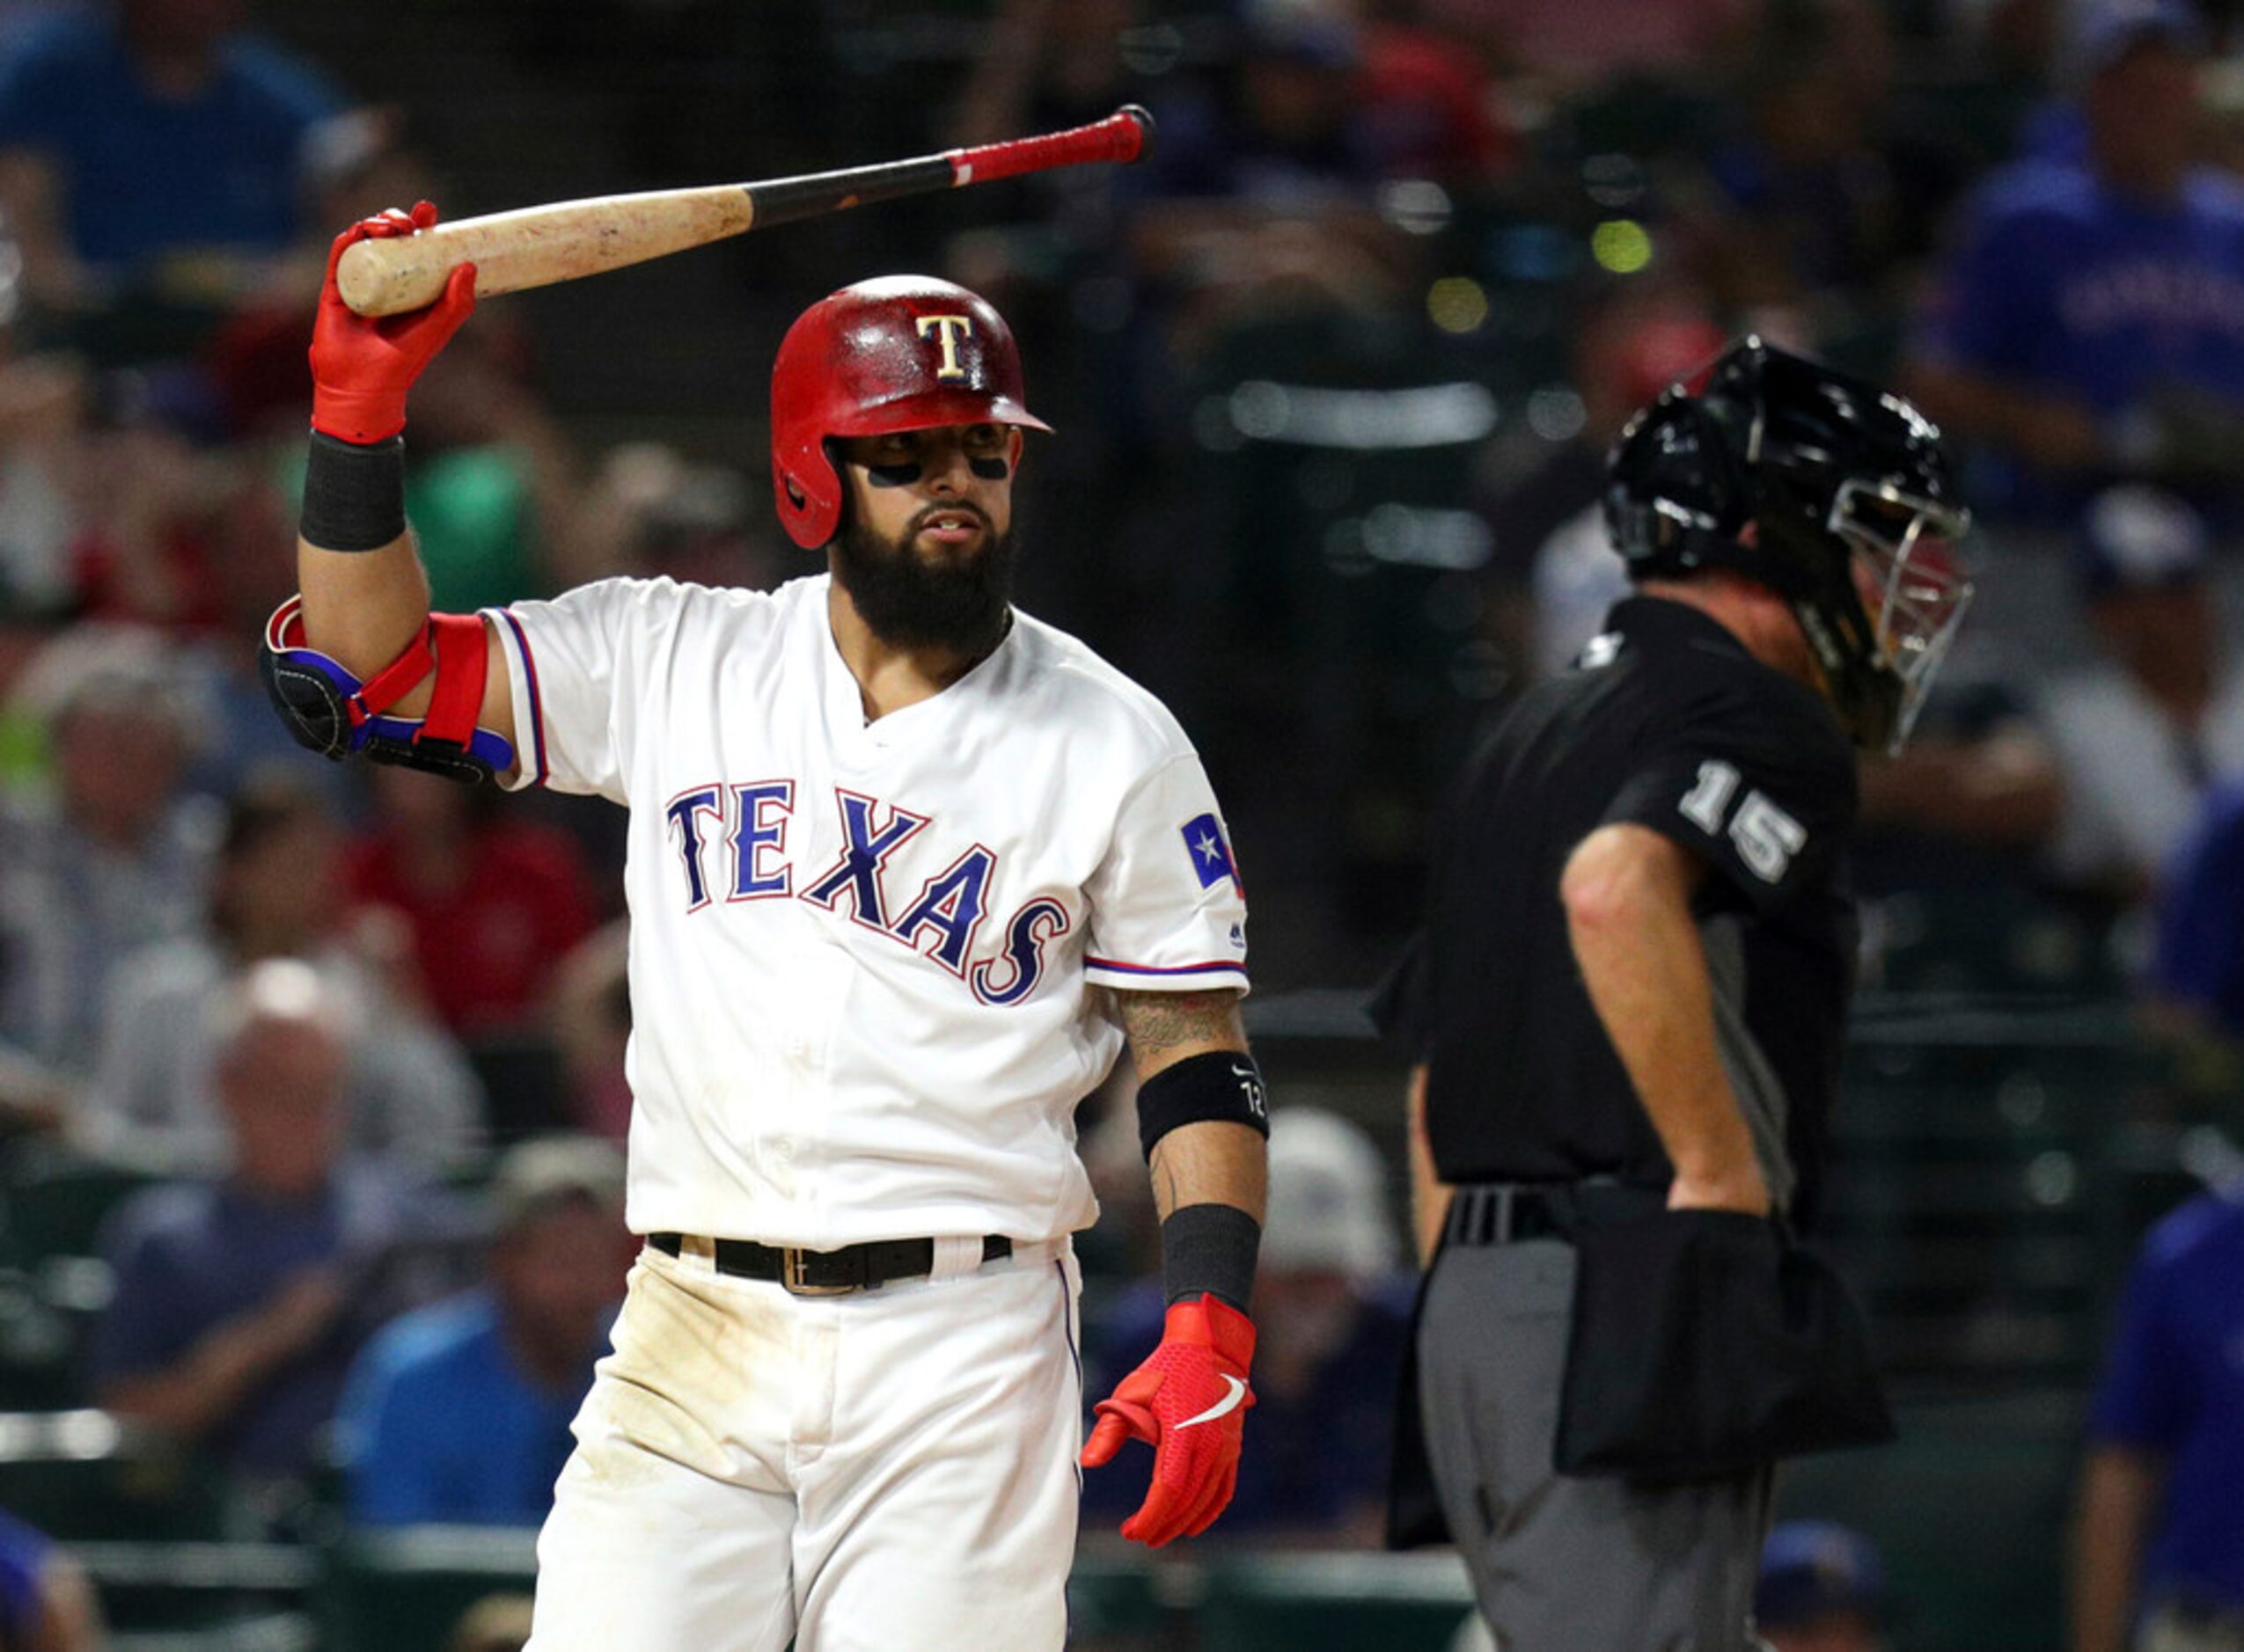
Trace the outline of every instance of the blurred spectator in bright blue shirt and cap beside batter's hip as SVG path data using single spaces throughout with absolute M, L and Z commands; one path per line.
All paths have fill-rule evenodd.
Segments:
M 343 1396 L 350 1517 L 536 1526 L 608 1347 L 631 1235 L 610 1142 L 521 1142 L 491 1185 L 489 1284 L 390 1324 Z

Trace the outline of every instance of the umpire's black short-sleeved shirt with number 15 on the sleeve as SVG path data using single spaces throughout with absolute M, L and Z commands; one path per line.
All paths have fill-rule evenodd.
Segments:
M 1631 822 L 1712 869 L 1696 918 L 1723 1066 L 1773 1196 L 1804 1221 L 1854 979 L 1854 750 L 1813 689 L 1696 608 L 1618 604 L 1468 763 L 1425 927 L 1380 992 L 1382 1024 L 1429 1066 L 1441 1181 L 1672 1178 L 1560 905 L 1575 844 Z

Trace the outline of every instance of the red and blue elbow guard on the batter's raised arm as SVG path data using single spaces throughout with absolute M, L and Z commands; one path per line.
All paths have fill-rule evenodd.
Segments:
M 265 622 L 258 676 L 298 745 L 334 763 L 359 752 L 476 786 L 514 768 L 514 745 L 476 727 L 489 646 L 480 617 L 433 613 L 404 653 L 359 682 L 341 662 L 305 646 L 303 597 L 289 597 Z M 431 673 L 429 712 L 390 716 Z

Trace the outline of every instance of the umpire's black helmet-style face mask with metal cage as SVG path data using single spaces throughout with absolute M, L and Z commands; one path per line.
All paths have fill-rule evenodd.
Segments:
M 1755 337 L 1629 420 L 1604 521 L 1631 579 L 1732 568 L 1784 597 L 1865 747 L 1907 738 L 1972 599 L 1939 429 Z

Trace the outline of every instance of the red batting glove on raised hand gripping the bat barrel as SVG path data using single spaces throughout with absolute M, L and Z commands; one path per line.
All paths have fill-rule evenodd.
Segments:
M 390 206 L 379 218 L 361 218 L 334 238 L 328 281 L 319 290 L 319 319 L 312 323 L 314 431 L 343 442 L 386 442 L 397 435 L 406 426 L 406 391 L 413 379 L 476 308 L 476 265 L 453 269 L 442 299 L 402 316 L 361 316 L 334 290 L 343 247 L 411 236 L 431 224 L 435 206 L 420 202 L 411 213 Z

